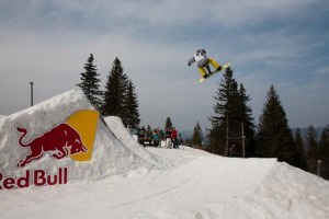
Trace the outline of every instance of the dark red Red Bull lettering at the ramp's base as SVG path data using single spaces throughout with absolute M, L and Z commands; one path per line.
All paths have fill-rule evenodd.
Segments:
M 0 173 L 0 191 L 13 188 L 26 188 L 30 186 L 46 186 L 67 184 L 68 170 L 59 168 L 56 174 L 47 174 L 44 170 L 26 170 L 21 177 L 5 177 Z

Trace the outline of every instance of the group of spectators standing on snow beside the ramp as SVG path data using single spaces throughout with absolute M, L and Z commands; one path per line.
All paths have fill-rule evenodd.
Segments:
M 174 127 L 162 129 L 146 130 L 143 126 L 138 129 L 138 142 L 145 146 L 161 147 L 161 140 L 164 141 L 164 148 L 179 148 L 179 134 Z

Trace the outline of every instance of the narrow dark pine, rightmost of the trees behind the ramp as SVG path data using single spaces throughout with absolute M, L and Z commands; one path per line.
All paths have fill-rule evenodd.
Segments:
M 131 80 L 128 80 L 128 87 L 125 96 L 123 122 L 131 128 L 138 128 L 140 123 L 137 94 Z

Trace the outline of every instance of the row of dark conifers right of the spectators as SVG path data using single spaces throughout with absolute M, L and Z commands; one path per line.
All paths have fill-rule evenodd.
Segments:
M 266 95 L 259 125 L 253 123 L 250 101 L 242 83 L 226 69 L 214 97 L 212 127 L 207 130 L 212 153 L 225 157 L 276 158 L 310 173 L 329 180 L 329 125 L 322 130 L 320 140 L 309 126 L 306 140 L 300 129 L 293 134 L 280 96 L 272 84 Z M 194 128 L 192 145 L 201 145 L 203 134 L 198 123 Z

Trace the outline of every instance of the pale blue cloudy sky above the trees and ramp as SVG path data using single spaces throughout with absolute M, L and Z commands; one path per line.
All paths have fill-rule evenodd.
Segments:
M 1 0 L 0 114 L 71 90 L 93 54 L 102 89 L 118 57 L 141 124 L 209 128 L 222 76 L 201 84 L 188 59 L 231 61 L 256 125 L 271 87 L 291 127 L 329 124 L 328 0 Z

